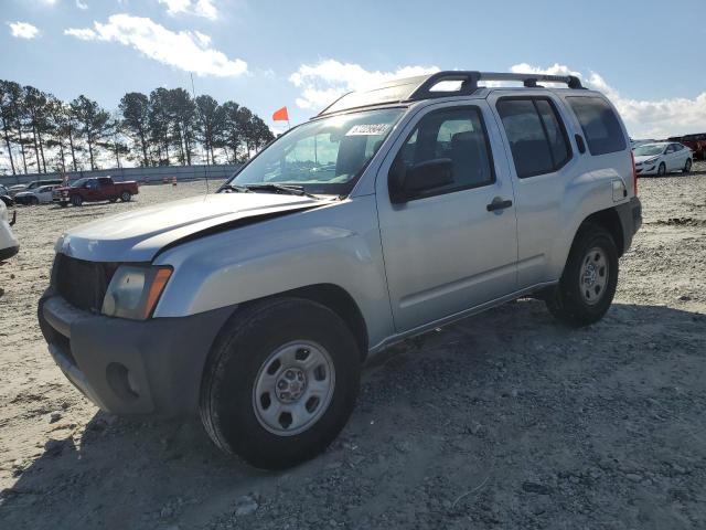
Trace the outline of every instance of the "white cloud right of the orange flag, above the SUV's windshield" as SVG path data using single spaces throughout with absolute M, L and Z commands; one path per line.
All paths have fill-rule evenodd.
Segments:
M 301 91 L 300 97 L 295 102 L 297 106 L 319 110 L 346 92 L 399 77 L 430 74 L 438 70 L 436 66 L 402 66 L 394 72 L 371 72 L 360 64 L 329 59 L 317 64 L 302 64 L 289 76 L 289 81 Z

